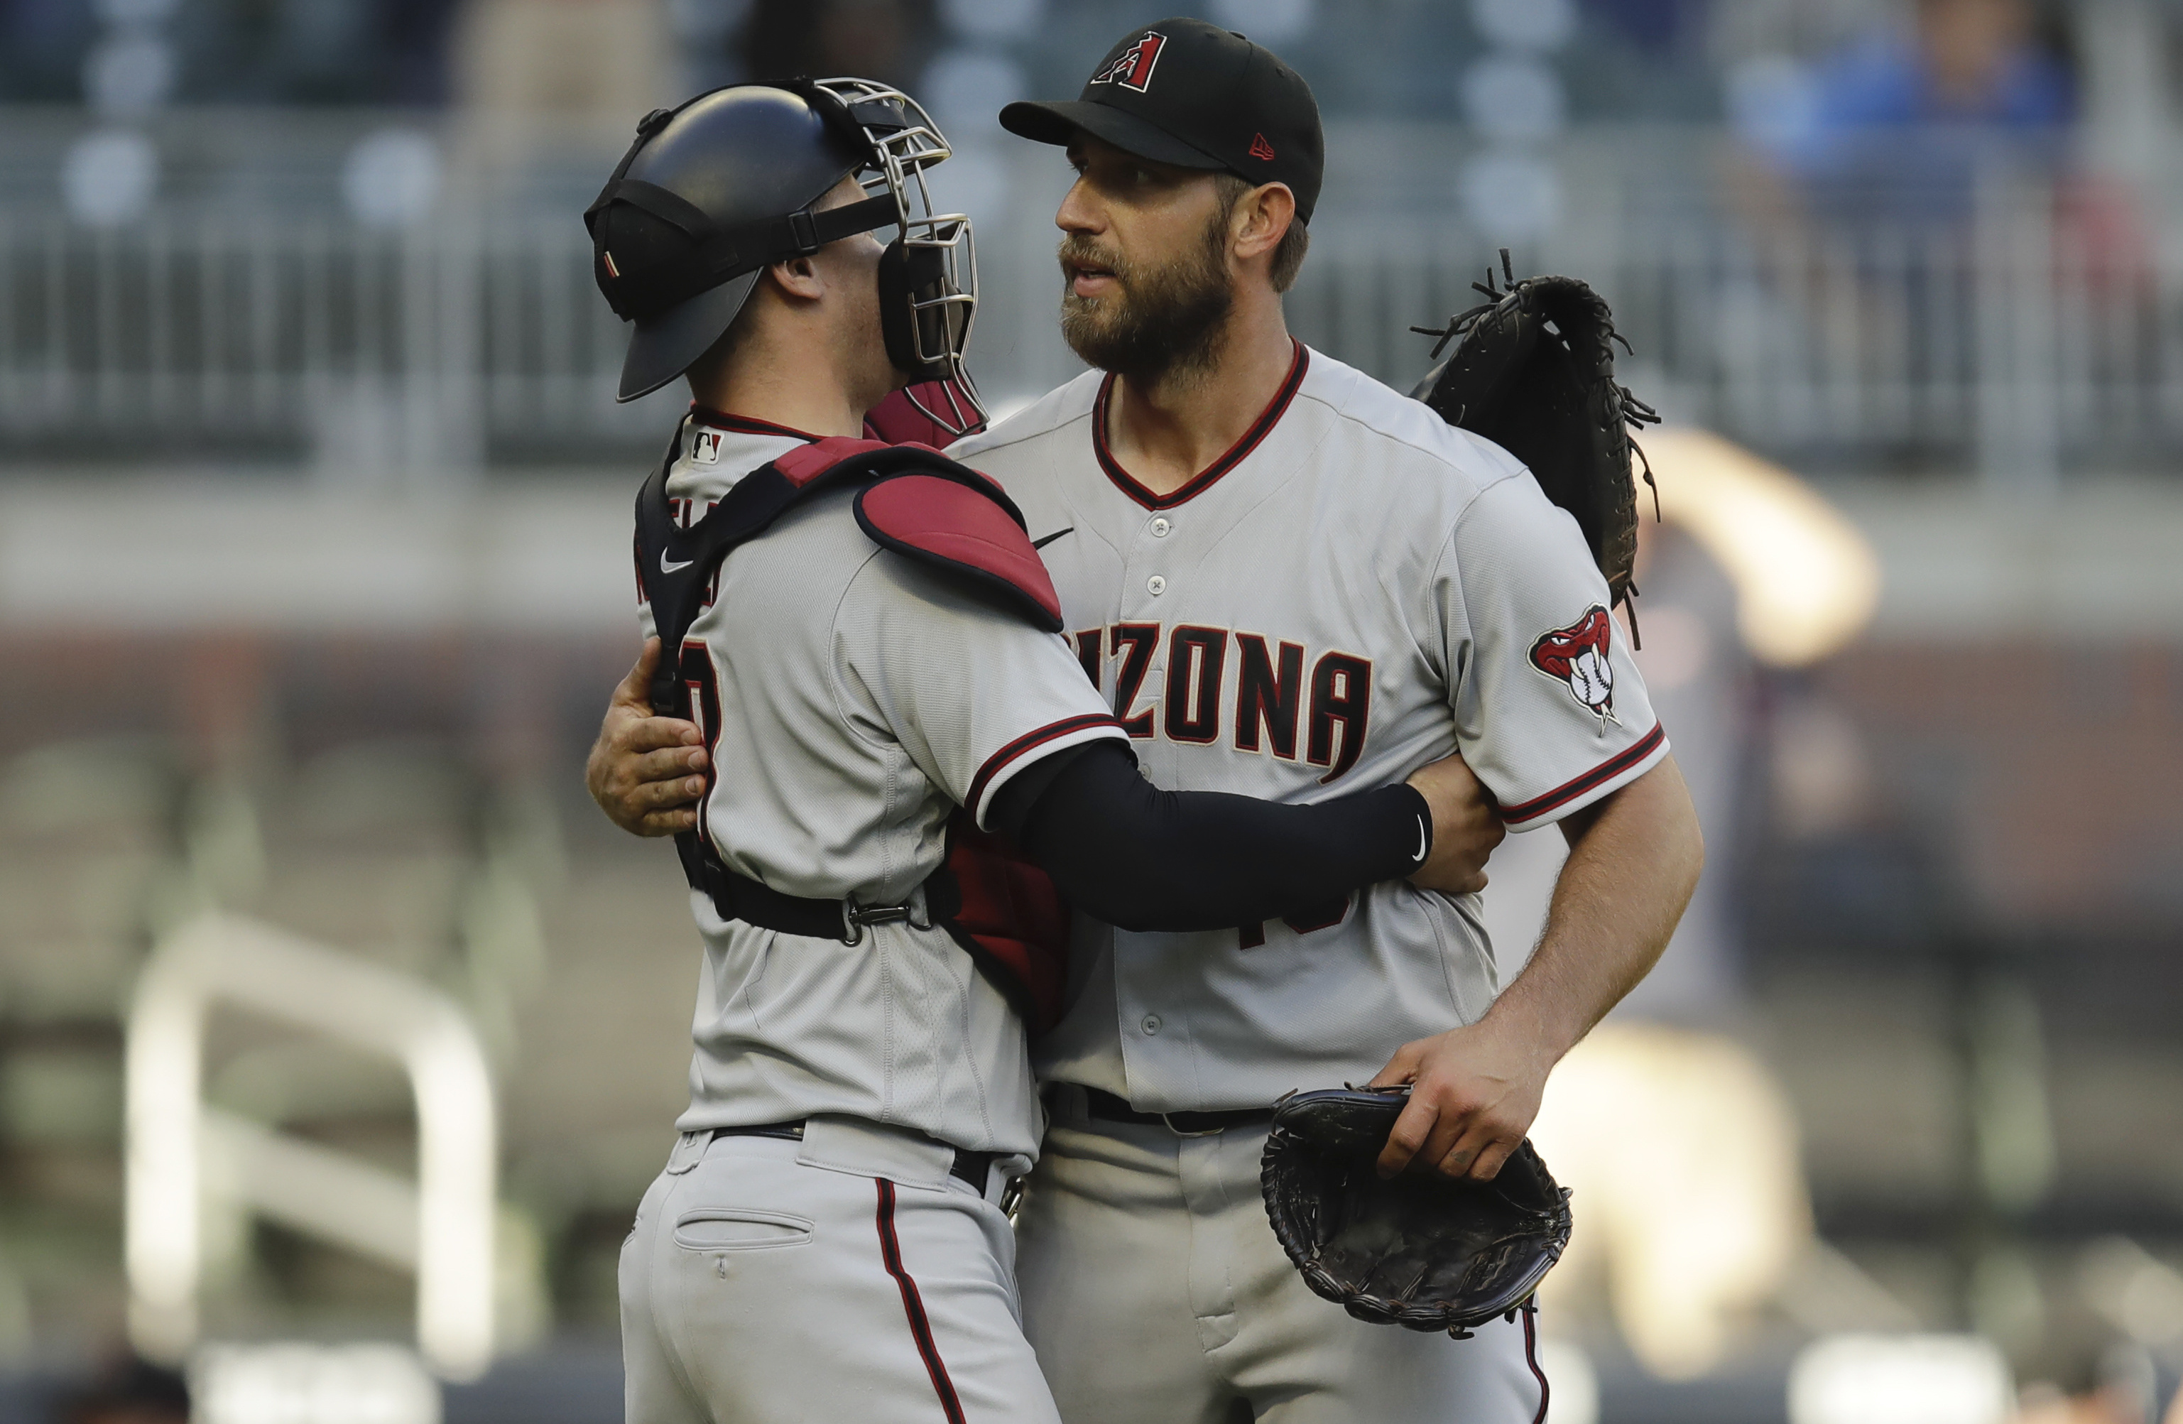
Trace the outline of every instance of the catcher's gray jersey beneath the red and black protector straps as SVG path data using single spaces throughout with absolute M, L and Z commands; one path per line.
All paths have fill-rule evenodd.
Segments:
M 683 422 L 670 507 L 703 518 L 801 439 Z M 790 895 L 895 904 L 939 869 L 956 804 L 982 819 L 1041 756 L 1122 736 L 1065 640 L 878 548 L 849 491 L 738 548 L 683 653 L 716 764 L 701 832 Z M 690 904 L 705 961 L 683 1131 L 843 1114 L 1037 1153 L 1024 1029 L 945 930 L 882 924 L 849 946 Z

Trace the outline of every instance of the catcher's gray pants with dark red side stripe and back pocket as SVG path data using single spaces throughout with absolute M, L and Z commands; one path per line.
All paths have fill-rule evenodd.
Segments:
M 622 1245 L 629 1424 L 1059 1424 L 1015 1241 L 937 1142 L 683 1134 Z

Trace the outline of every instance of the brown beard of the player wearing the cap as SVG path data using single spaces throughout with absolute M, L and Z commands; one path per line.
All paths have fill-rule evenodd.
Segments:
M 1072 232 L 1061 240 L 1061 273 L 1070 262 L 1113 273 L 1116 290 L 1078 297 L 1061 288 L 1061 336 L 1087 365 L 1133 382 L 1157 382 L 1212 369 L 1227 336 L 1236 295 L 1227 271 L 1227 214 L 1205 225 L 1205 238 L 1159 266 L 1131 262 Z

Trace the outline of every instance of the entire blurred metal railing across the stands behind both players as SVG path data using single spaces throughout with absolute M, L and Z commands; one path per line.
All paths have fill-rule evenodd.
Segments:
M 1995 166 L 1956 225 L 1744 221 L 1707 175 L 1727 140 L 1672 138 L 1574 135 L 1561 227 L 1517 256 L 1613 301 L 1624 369 L 1670 415 L 1801 467 L 2028 487 L 2183 454 L 2183 271 L 2144 240 L 2146 212 L 2118 238 Z M 1460 151 L 1439 131 L 1388 142 L 1441 170 Z M 965 149 L 987 290 L 974 367 L 1006 402 L 1076 369 L 1052 319 L 1059 183 L 1043 151 Z M 557 201 L 589 170 L 565 166 L 472 183 L 397 232 L 295 192 L 98 229 L 0 183 L 0 454 L 260 454 L 330 478 L 651 456 L 679 397 L 611 400 L 624 330 L 592 288 L 581 201 Z M 1408 384 L 1428 343 L 1406 328 L 1471 306 L 1498 242 L 1395 188 L 1329 186 L 1290 321 Z

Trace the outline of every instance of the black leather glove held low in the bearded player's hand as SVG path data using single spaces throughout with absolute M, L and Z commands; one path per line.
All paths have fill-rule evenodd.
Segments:
M 1349 1315 L 1456 1339 L 1513 1315 L 1570 1245 L 1570 1192 L 1524 1142 L 1491 1182 L 1373 1168 L 1408 1088 L 1281 1099 L 1260 1166 L 1281 1249 Z

